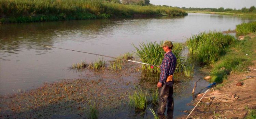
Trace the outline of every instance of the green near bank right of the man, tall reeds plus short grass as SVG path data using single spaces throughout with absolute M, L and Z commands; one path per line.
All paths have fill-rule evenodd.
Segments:
M 237 25 L 237 29 L 244 25 L 246 23 Z M 256 56 L 255 40 L 255 37 L 236 40 L 233 36 L 210 31 L 192 35 L 187 40 L 187 47 L 198 63 L 211 67 L 211 82 L 221 83 L 231 72 L 246 71 L 246 67 L 252 65 L 251 62 Z

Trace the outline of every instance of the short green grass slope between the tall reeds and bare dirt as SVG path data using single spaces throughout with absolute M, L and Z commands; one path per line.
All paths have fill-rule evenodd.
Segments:
M 211 70 L 211 82 L 221 83 L 227 79 L 231 72 L 246 71 L 247 67 L 252 65 L 255 60 L 256 38 L 245 38 L 238 40 L 227 49 L 226 55 L 219 58 L 219 61 L 213 64 Z M 248 54 L 248 55 L 245 55 Z

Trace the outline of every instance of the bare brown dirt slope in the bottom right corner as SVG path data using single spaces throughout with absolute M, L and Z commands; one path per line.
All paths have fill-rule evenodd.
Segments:
M 223 82 L 224 86 L 219 88 L 219 93 L 237 96 L 237 99 L 230 102 L 225 102 L 224 100 L 223 102 L 212 100 L 210 98 L 203 98 L 191 114 L 190 118 L 243 119 L 248 114 L 248 109 L 256 109 L 256 77 L 254 77 L 256 76 L 256 62 L 253 63 L 254 65 L 249 67 L 249 71 L 239 74 L 230 74 L 228 80 Z M 247 77 L 247 79 L 246 76 L 253 77 Z M 243 85 L 237 86 L 236 84 L 238 82 L 241 82 Z M 213 90 L 216 90 L 216 87 L 211 88 L 211 91 L 205 96 L 210 96 Z M 197 103 L 200 98 L 198 97 L 195 102 Z M 182 118 L 185 118 L 185 116 Z

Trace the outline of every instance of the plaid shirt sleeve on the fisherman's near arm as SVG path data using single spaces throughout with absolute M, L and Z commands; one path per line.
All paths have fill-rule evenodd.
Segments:
M 165 57 L 162 61 L 161 64 L 161 73 L 160 73 L 160 83 L 165 83 L 167 76 L 169 74 L 169 69 L 170 69 L 170 59 L 169 57 Z

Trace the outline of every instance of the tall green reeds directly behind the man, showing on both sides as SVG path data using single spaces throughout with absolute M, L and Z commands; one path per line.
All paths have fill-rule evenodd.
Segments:
M 164 57 L 165 52 L 160 47 L 160 45 L 163 43 L 161 41 L 160 43 L 155 42 L 147 42 L 147 43 L 140 43 L 139 47 L 136 47 L 134 44 L 133 47 L 136 49 L 136 54 L 140 57 L 141 62 L 152 64 L 159 66 L 162 63 L 162 59 Z M 174 43 L 172 52 L 177 58 L 177 64 L 176 64 L 176 70 L 175 73 L 181 73 L 185 70 L 188 70 L 186 67 L 186 60 L 185 57 L 181 56 L 181 53 L 184 49 L 184 45 L 181 43 Z M 160 68 L 153 67 L 149 65 L 142 65 L 142 70 L 146 72 L 160 72 Z M 190 69 L 189 69 L 190 70 Z M 187 71 L 187 73 L 191 73 L 192 71 Z

